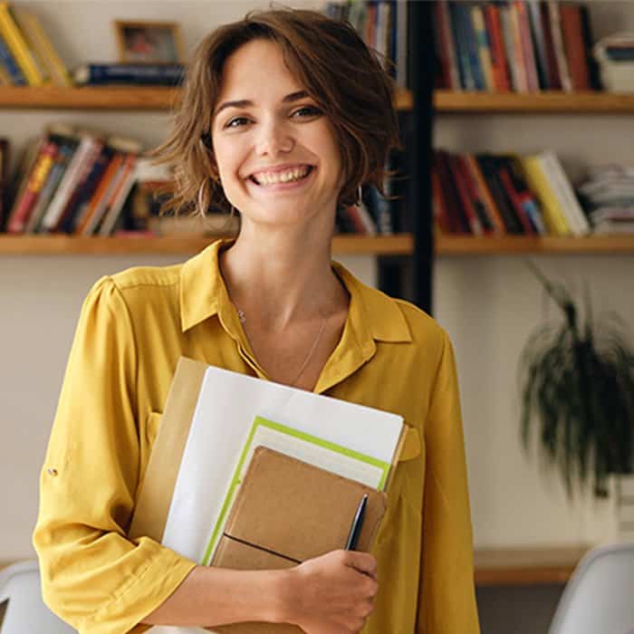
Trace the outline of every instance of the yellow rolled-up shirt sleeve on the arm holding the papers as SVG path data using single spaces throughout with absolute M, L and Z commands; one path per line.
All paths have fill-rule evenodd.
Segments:
M 102 278 L 82 306 L 34 531 L 43 599 L 82 634 L 142 631 L 195 565 L 126 537 L 139 485 L 137 363 L 126 303 Z

